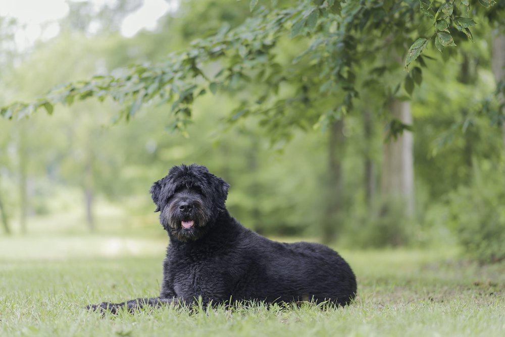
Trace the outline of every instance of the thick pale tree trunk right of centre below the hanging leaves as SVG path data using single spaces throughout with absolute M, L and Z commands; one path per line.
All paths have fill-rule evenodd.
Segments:
M 392 116 L 405 124 L 412 124 L 411 104 L 391 98 L 389 109 Z M 414 139 L 404 130 L 401 136 L 384 144 L 382 163 L 382 194 L 386 198 L 401 198 L 406 202 L 406 214 L 413 215 L 414 199 Z

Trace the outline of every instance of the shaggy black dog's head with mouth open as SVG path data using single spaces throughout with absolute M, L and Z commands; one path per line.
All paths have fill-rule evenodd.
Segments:
M 163 228 L 179 241 L 189 242 L 203 237 L 225 210 L 229 187 L 207 167 L 183 164 L 170 168 L 150 193 Z

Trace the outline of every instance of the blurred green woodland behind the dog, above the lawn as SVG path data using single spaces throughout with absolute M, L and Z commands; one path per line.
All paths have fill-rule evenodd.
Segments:
M 254 3 L 181 1 L 156 30 L 126 38 L 119 27 L 142 1 L 69 2 L 60 33 L 24 50 L 12 47 L 17 23 L 0 18 L 10 27 L 0 35 L 0 105 L 92 75 L 121 78 L 129 64 L 164 62 L 247 18 L 292 14 L 291 2 L 261 0 L 251 14 Z M 49 114 L 0 120 L 5 232 L 163 235 L 149 186 L 171 165 L 197 162 L 231 184 L 231 213 L 261 234 L 352 247 L 458 241 L 478 259 L 505 258 L 505 2 L 458 2 L 451 19 L 445 2 L 314 11 L 327 3 L 301 2 L 275 44 L 262 40 L 263 53 L 230 44 L 224 57 L 198 64 L 211 79 L 181 79 L 191 84 L 189 104 L 181 93 L 178 105 L 139 100 L 138 88 L 118 103 L 93 87 L 42 106 Z M 447 19 L 423 18 L 426 3 Z M 477 22 L 473 42 L 454 19 L 467 16 Z M 457 46 L 437 46 L 444 33 Z M 406 71 L 411 45 L 431 34 Z

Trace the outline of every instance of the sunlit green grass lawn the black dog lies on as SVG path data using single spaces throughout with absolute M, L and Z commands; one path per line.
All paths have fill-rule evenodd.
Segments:
M 157 295 L 165 243 L 0 237 L 0 336 L 505 335 L 505 265 L 462 262 L 455 249 L 342 251 L 358 276 L 359 296 L 346 308 L 163 308 L 105 318 L 83 309 Z

